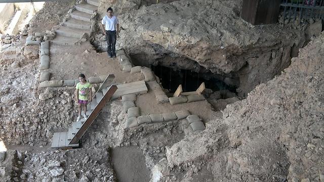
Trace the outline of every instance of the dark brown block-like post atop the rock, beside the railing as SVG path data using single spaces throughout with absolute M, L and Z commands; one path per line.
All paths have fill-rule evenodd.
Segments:
M 280 0 L 243 0 L 241 18 L 252 25 L 277 22 Z

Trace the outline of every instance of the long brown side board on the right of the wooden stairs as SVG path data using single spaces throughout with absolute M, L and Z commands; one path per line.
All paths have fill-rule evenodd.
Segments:
M 90 127 L 90 125 L 93 123 L 93 121 L 96 119 L 96 117 L 99 115 L 100 111 L 103 107 L 105 107 L 106 103 L 110 100 L 112 95 L 116 92 L 117 86 L 111 85 L 108 89 L 108 92 L 105 94 L 105 96 L 101 99 L 101 101 L 98 103 L 97 107 L 92 111 L 92 113 L 89 115 L 86 122 L 81 126 L 81 128 L 75 133 L 73 139 L 70 141 L 69 145 L 71 144 L 77 144 L 78 141 L 81 139 L 81 137 L 85 134 L 87 129 Z

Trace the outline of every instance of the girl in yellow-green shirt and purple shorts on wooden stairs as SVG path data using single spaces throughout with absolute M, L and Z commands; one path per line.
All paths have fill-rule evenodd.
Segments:
M 81 119 L 82 108 L 84 108 L 83 117 L 87 119 L 87 104 L 92 101 L 92 85 L 86 80 L 84 74 L 79 74 L 79 81 L 75 86 L 75 101 L 78 103 L 78 116 L 76 121 Z M 89 96 L 89 97 L 88 97 Z

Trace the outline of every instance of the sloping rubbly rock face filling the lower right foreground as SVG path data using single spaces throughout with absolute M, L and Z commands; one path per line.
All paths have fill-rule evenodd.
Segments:
M 211 179 L 222 181 L 320 181 L 323 43 L 321 34 L 284 73 L 257 86 L 247 99 L 228 105 L 223 119 L 167 148 L 169 167 L 160 169 L 164 179 L 186 181 L 210 172 Z M 190 172 L 192 164 L 205 168 Z M 186 171 L 184 177 L 171 179 L 180 169 Z

